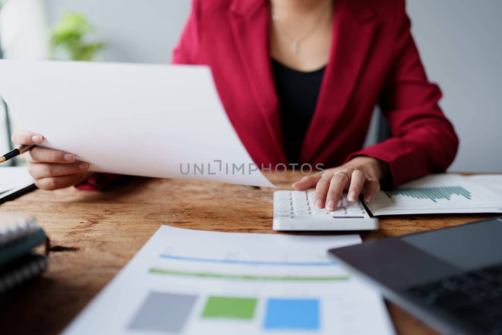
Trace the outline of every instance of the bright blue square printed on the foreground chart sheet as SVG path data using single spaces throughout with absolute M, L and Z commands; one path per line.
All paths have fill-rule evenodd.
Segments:
M 269 299 L 265 329 L 318 330 L 319 300 Z

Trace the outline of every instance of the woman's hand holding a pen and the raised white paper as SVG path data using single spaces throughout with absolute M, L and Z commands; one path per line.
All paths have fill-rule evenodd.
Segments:
M 25 130 L 12 135 L 12 142 L 17 145 L 37 145 L 43 140 L 42 135 Z M 44 190 L 77 185 L 87 178 L 89 164 L 75 161 L 75 155 L 64 151 L 35 147 L 23 157 L 35 185 Z

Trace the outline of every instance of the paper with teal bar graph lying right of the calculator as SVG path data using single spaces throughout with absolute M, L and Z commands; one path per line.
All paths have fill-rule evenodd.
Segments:
M 428 175 L 396 190 L 378 192 L 367 207 L 373 215 L 502 214 L 502 175 Z

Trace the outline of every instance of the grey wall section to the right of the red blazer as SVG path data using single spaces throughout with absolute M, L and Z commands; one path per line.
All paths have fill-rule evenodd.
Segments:
M 502 172 L 502 1 L 408 0 L 407 11 L 460 138 L 450 171 Z

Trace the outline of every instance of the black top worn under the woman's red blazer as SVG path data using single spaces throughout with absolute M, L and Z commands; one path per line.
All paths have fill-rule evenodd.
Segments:
M 284 147 L 290 163 L 300 163 L 298 155 L 314 115 L 325 68 L 302 72 L 272 59 L 281 110 Z

